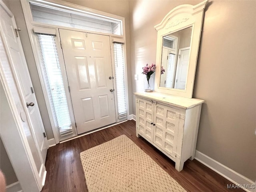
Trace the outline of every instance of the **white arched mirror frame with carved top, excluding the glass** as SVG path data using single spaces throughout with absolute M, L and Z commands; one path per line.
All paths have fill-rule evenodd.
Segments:
M 200 44 L 202 23 L 204 18 L 204 8 L 208 0 L 192 6 L 184 4 L 172 9 L 154 28 L 157 30 L 157 47 L 156 47 L 156 78 L 155 91 L 175 96 L 192 98 L 194 80 L 196 74 L 196 63 Z M 162 61 L 162 44 L 163 37 L 178 32 L 192 26 L 190 53 L 188 62 L 188 72 L 186 86 L 184 90 L 160 87 L 161 61 Z

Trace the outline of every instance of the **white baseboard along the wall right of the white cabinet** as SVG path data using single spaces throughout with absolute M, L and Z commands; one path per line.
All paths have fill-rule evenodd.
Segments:
M 200 163 L 204 164 L 211 170 L 215 171 L 216 173 L 220 174 L 227 180 L 231 181 L 235 185 L 242 185 L 242 186 L 254 186 L 255 183 L 246 178 L 245 176 L 242 176 L 241 174 L 235 172 L 234 170 L 228 168 L 227 166 L 224 166 L 223 164 L 217 162 L 216 160 L 208 157 L 207 155 L 201 153 L 200 151 L 196 150 L 195 159 L 198 160 Z M 254 189 L 245 189 L 243 190 L 247 192 L 254 192 Z

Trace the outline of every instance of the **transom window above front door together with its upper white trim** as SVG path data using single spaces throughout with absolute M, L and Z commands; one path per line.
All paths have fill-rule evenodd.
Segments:
M 28 0 L 26 8 L 32 24 L 124 36 L 124 18 L 119 16 L 60 1 Z

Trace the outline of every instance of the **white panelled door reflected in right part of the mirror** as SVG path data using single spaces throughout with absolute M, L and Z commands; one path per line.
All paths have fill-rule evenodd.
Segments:
M 176 89 L 185 89 L 188 73 L 189 50 L 189 47 L 179 50 L 179 58 L 177 62 L 178 64 L 174 84 L 174 88 Z

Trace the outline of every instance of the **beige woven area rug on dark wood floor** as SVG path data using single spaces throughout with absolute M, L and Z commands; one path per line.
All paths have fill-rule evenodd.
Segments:
M 89 192 L 185 192 L 150 156 L 122 135 L 80 153 Z

